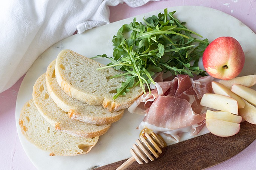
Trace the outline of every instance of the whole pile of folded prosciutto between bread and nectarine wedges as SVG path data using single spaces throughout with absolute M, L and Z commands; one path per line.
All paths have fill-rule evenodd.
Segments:
M 134 113 L 143 108 L 140 130 L 148 128 L 178 142 L 179 134 L 197 135 L 205 125 L 205 108 L 200 101 L 204 93 L 212 93 L 212 81 L 210 76 L 192 79 L 177 75 L 171 81 L 158 82 L 158 87 L 151 84 L 151 93 L 140 96 L 128 110 Z

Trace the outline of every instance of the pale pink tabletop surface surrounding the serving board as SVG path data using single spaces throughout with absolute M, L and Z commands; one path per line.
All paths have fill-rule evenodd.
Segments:
M 133 17 L 135 15 L 157 9 L 183 5 L 207 6 L 226 12 L 227 14 L 242 21 L 242 23 L 247 25 L 254 33 L 256 33 L 256 0 L 165 0 L 149 2 L 138 8 L 130 8 L 126 4 L 121 4 L 116 7 L 110 7 L 110 22 Z M 198 20 L 200 20 L 200 18 L 198 18 Z M 23 77 L 20 78 L 20 80 L 18 80 L 10 89 L 0 93 L 0 170 L 36 169 L 26 156 L 20 144 L 15 126 L 15 104 L 18 89 L 22 80 Z M 248 146 L 247 149 L 228 161 L 209 169 L 254 170 L 256 169 L 255 159 L 256 141 Z

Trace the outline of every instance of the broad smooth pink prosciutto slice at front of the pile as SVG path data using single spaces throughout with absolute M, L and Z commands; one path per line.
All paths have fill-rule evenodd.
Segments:
M 157 96 L 143 121 L 169 131 L 192 126 L 203 120 L 204 117 L 195 114 L 187 100 L 175 96 Z

